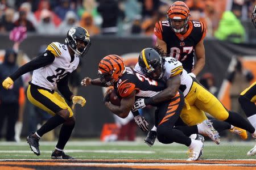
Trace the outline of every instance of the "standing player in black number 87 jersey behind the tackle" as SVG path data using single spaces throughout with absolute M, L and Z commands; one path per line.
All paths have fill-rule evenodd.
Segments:
M 155 46 L 166 53 L 164 56 L 170 55 L 179 60 L 183 68 L 196 77 L 205 65 L 204 37 L 207 27 L 203 22 L 189 20 L 189 16 L 189 8 L 184 2 L 174 2 L 167 11 L 168 20 L 155 24 Z

